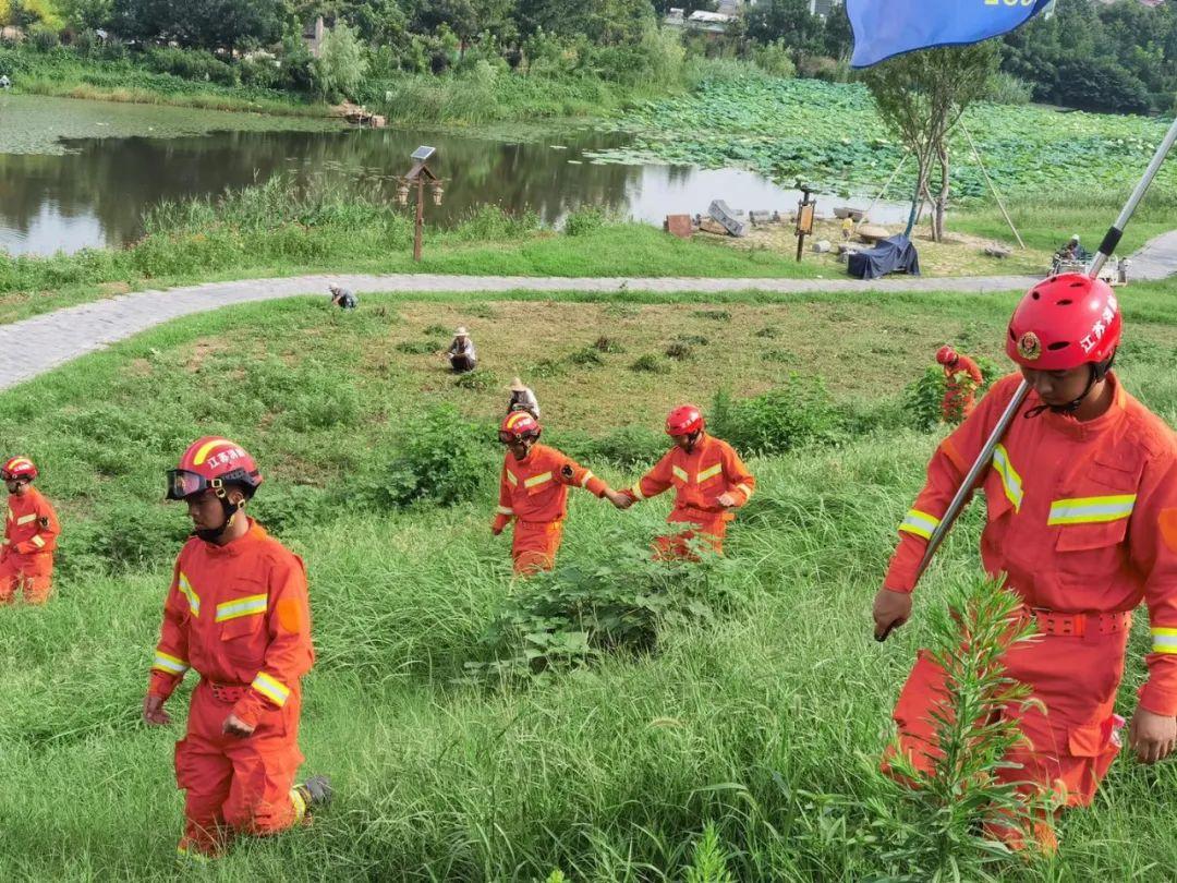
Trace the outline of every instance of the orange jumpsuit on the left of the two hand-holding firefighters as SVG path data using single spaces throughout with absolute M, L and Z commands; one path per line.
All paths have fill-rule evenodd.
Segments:
M 516 573 L 526 576 L 556 566 L 572 485 L 605 496 L 604 482 L 554 447 L 532 445 L 521 460 L 507 452 L 493 529 L 498 533 L 514 519 L 511 557 Z

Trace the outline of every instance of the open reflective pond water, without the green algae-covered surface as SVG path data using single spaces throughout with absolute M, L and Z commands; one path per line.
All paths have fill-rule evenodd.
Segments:
M 477 205 L 531 208 L 548 224 L 580 204 L 606 205 L 660 223 L 672 212 L 705 212 L 716 198 L 733 208 L 786 211 L 797 194 L 739 170 L 594 164 L 585 152 L 623 146 L 626 135 L 578 131 L 544 142 L 508 144 L 415 131 L 220 132 L 180 138 L 67 142 L 65 155 L 0 155 L 0 248 L 47 254 L 117 246 L 141 234 L 147 206 L 218 193 L 284 172 L 358 181 L 387 199 L 420 144 L 438 148 L 447 179 L 431 223 L 447 224 Z M 837 201 L 829 198 L 823 208 Z M 858 200 L 862 201 L 862 200 Z

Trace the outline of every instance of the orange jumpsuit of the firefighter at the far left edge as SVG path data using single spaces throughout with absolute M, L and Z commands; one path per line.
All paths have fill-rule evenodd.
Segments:
M 53 550 L 58 547 L 58 514 L 35 487 L 8 494 L 4 546 L 0 549 L 0 604 L 24 589 L 25 600 L 44 604 L 53 589 Z

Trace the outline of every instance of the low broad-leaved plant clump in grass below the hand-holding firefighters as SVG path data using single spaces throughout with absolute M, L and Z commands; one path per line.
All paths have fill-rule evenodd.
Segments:
M 523 583 L 483 638 L 488 660 L 471 675 L 550 676 L 604 653 L 649 653 L 659 630 L 710 622 L 730 609 L 722 573 L 730 563 L 656 560 L 649 547 L 616 532 L 591 566 L 560 564 Z

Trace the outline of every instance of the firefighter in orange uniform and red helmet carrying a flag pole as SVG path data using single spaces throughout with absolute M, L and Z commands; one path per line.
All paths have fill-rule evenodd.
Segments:
M 1063 805 L 1088 805 L 1119 750 L 1113 704 L 1142 602 L 1152 652 L 1129 743 L 1153 763 L 1177 741 L 1177 437 L 1111 372 L 1122 324 L 1112 290 L 1084 275 L 1048 279 L 1023 298 L 1006 351 L 1031 392 L 977 484 L 988 507 L 985 570 L 1004 575 L 1039 633 L 1005 658 L 1042 705 L 1019 713 L 1026 742 L 1003 775 Z M 926 542 L 1018 380 L 997 383 L 932 457 L 875 599 L 879 639 L 911 616 Z M 931 715 L 943 683 L 920 652 L 895 709 L 900 750 L 924 770 L 939 756 Z M 1053 850 L 1052 826 L 1035 829 L 1039 847 Z M 991 834 L 1017 848 L 1028 832 Z

